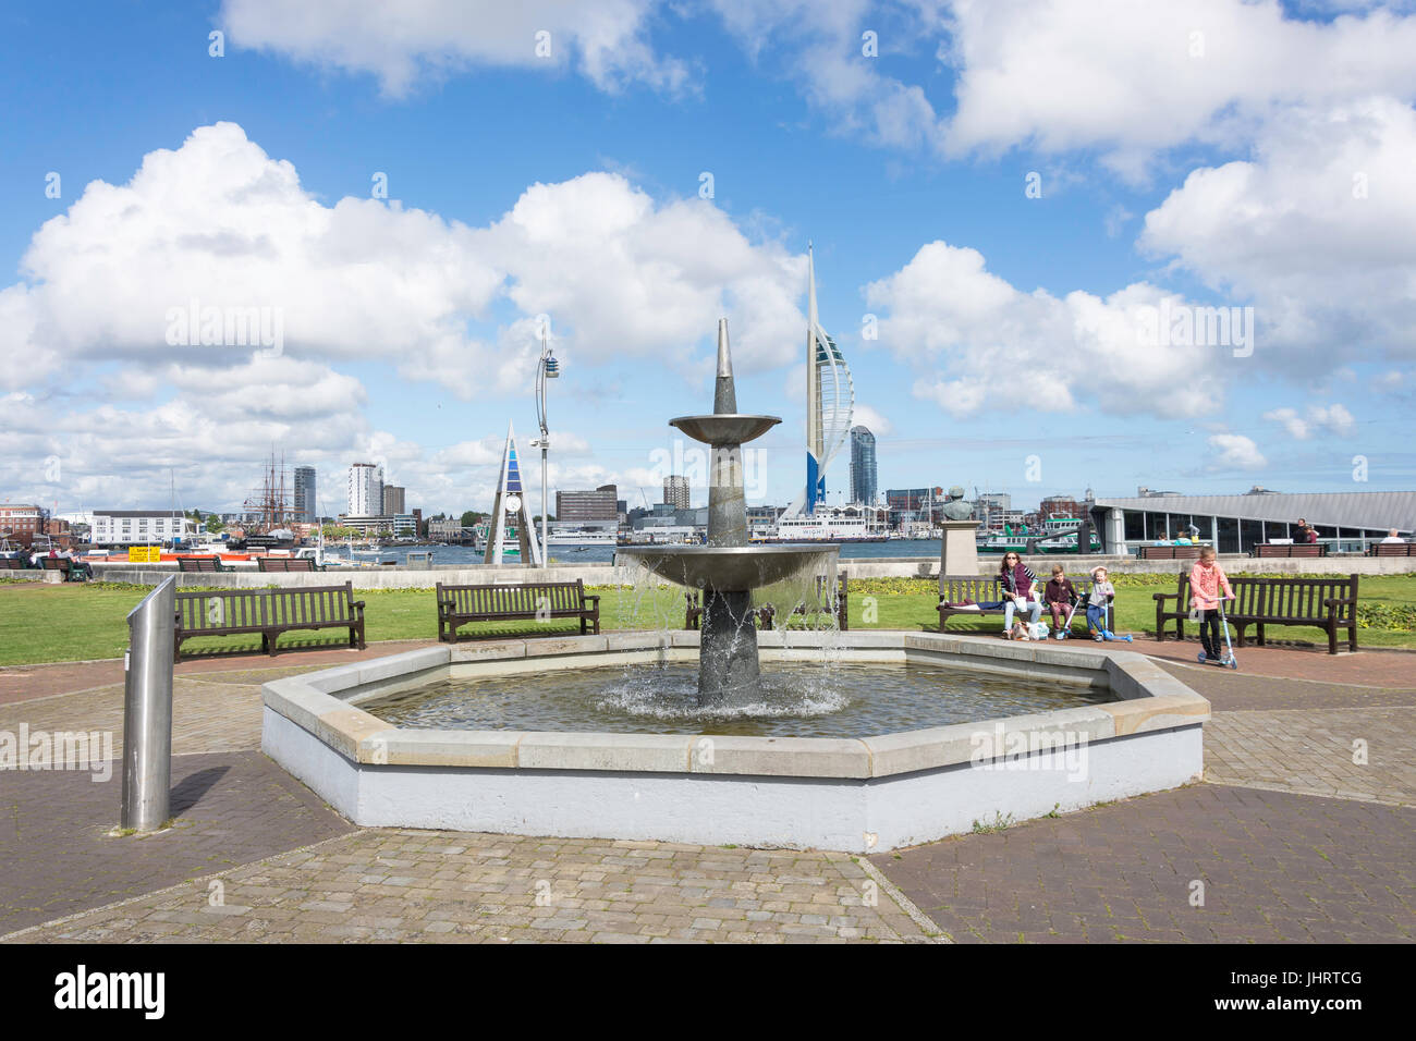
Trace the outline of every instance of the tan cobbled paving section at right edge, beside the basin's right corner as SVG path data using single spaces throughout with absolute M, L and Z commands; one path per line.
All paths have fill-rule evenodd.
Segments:
M 1216 712 L 1205 780 L 1416 804 L 1416 707 Z

